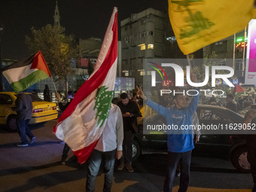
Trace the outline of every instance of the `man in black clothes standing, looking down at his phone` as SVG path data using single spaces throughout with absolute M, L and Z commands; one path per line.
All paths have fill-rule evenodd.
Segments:
M 121 101 L 117 103 L 123 116 L 123 157 L 118 170 L 125 166 L 128 172 L 133 172 L 133 136 L 138 131 L 137 117 L 142 117 L 136 102 L 129 99 L 127 93 L 120 94 Z

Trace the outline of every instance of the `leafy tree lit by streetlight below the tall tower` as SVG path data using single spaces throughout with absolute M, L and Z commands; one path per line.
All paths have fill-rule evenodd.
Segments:
M 41 29 L 31 29 L 32 37 L 26 36 L 25 42 L 32 53 L 41 50 L 53 75 L 54 81 L 65 79 L 68 91 L 67 75 L 71 72 L 72 58 L 78 56 L 78 45 L 72 35 L 65 34 L 62 26 L 47 25 Z

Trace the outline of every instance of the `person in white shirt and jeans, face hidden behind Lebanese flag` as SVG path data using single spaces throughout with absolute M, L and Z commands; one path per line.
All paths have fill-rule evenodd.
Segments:
M 102 128 L 103 129 L 103 128 Z M 99 167 L 103 162 L 105 169 L 105 181 L 103 191 L 110 192 L 114 173 L 115 159 L 122 157 L 123 143 L 123 120 L 120 108 L 111 104 L 107 123 L 104 127 L 96 147 L 88 160 L 88 174 L 86 181 L 86 191 L 92 192 L 95 188 L 96 176 Z

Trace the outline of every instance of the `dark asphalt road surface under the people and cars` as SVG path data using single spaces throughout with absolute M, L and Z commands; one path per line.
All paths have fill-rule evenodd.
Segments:
M 32 126 L 35 145 L 18 148 L 20 137 L 4 127 L 0 129 L 0 191 L 85 191 L 87 166 L 72 161 L 72 151 L 66 166 L 59 164 L 64 144 L 52 133 L 56 120 L 44 126 Z M 166 155 L 146 154 L 133 163 L 135 172 L 114 172 L 112 191 L 163 191 Z M 249 192 L 252 179 L 233 168 L 229 160 L 215 157 L 192 157 L 188 192 Z M 99 173 L 96 192 L 102 191 L 104 174 Z M 173 191 L 178 191 L 178 178 Z

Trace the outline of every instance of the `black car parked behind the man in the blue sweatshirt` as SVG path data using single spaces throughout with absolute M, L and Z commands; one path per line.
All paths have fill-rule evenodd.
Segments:
M 242 123 L 243 117 L 230 109 L 216 105 L 198 105 L 197 114 L 200 124 L 230 124 Z M 164 117 L 157 117 L 157 123 L 165 122 Z M 139 126 L 139 133 L 133 139 L 133 159 L 140 154 L 166 153 L 167 135 L 164 132 L 143 134 L 143 126 Z M 250 172 L 247 160 L 246 135 L 206 134 L 201 130 L 200 142 L 195 144 L 193 155 L 212 157 L 230 157 L 233 166 L 239 172 Z

